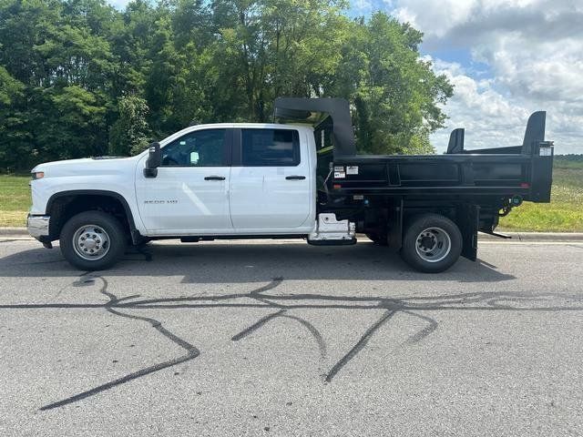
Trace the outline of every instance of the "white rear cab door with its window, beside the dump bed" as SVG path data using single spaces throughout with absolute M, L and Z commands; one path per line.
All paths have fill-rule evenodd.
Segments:
M 303 147 L 303 148 L 302 148 Z M 233 136 L 230 218 L 243 229 L 295 229 L 310 216 L 307 145 L 292 128 L 244 128 Z

